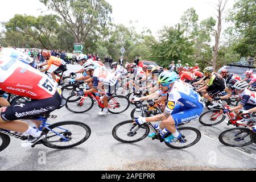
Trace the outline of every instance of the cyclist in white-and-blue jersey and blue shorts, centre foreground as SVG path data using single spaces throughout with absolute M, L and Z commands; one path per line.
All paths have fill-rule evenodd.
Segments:
M 159 96 L 162 92 L 168 92 L 168 104 L 163 114 L 149 118 L 139 117 L 135 119 L 135 122 L 139 125 L 145 122 L 162 121 L 160 124 L 162 138 L 165 138 L 169 132 L 172 133 L 172 135 L 164 139 L 168 143 L 175 142 L 181 137 L 176 126 L 199 117 L 204 107 L 200 101 L 201 97 L 199 94 L 189 89 L 182 81 L 177 81 L 178 78 L 179 76 L 175 72 L 164 71 L 158 78 L 160 83 L 160 91 L 158 93 L 142 98 L 135 98 L 135 101 L 148 100 L 152 96 Z M 151 133 L 148 137 L 155 137 L 155 134 Z

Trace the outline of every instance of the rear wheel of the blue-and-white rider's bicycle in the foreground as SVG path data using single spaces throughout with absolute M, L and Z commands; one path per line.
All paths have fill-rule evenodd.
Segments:
M 199 142 L 201 138 L 200 131 L 193 127 L 181 127 L 177 130 L 179 130 L 181 138 L 172 143 L 165 142 L 168 147 L 175 149 L 188 148 Z

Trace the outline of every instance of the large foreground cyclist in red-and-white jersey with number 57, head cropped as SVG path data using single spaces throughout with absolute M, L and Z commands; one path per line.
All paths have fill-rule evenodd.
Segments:
M 0 128 L 30 135 L 22 147 L 32 146 L 45 135 L 19 119 L 36 118 L 57 109 L 61 104 L 57 83 L 11 57 L 0 57 L 0 69 L 0 90 L 31 98 L 30 102 L 2 107 Z

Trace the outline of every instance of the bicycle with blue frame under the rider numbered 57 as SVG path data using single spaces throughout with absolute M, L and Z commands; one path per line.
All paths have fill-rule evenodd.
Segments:
M 61 107 L 63 106 L 64 102 L 61 103 L 58 109 L 61 109 Z M 77 121 L 62 121 L 49 125 L 48 123 L 46 123 L 48 118 L 55 119 L 57 118 L 57 115 L 46 114 L 40 117 L 40 121 L 42 121 L 42 124 L 39 130 L 43 131 L 46 134 L 46 138 L 33 144 L 31 146 L 32 148 L 34 148 L 38 144 L 43 144 L 44 146 L 49 148 L 72 148 L 84 143 L 90 137 L 90 127 L 88 125 L 85 125 L 84 123 Z M 76 133 L 75 129 L 79 129 L 79 133 Z M 9 146 L 11 141 L 10 137 L 14 137 L 20 140 L 28 139 L 28 137 L 19 135 L 16 132 L 0 129 L 0 151 L 5 150 L 5 148 Z

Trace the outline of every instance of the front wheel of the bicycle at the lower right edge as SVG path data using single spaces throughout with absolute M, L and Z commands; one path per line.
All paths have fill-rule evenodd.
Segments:
M 220 140 L 222 144 L 225 144 L 225 146 L 243 147 L 254 142 L 253 140 L 251 140 L 250 135 L 251 130 L 247 128 L 237 127 L 234 129 L 223 131 L 219 135 L 218 140 Z

